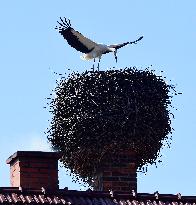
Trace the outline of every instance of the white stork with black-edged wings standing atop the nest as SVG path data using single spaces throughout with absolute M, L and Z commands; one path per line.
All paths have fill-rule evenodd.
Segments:
M 76 31 L 71 27 L 71 22 L 69 19 L 66 19 L 64 17 L 64 20 L 60 17 L 60 22 L 58 22 L 58 26 L 55 27 L 55 29 L 58 29 L 59 33 L 64 37 L 64 39 L 67 40 L 68 44 L 75 48 L 77 51 L 80 51 L 84 53 L 83 56 L 81 56 L 81 59 L 83 60 L 91 60 L 95 58 L 99 59 L 98 62 L 98 70 L 99 70 L 99 63 L 101 60 L 101 56 L 106 53 L 113 52 L 114 57 L 117 63 L 117 50 L 119 48 L 122 48 L 128 44 L 136 44 L 138 41 L 140 41 L 143 36 L 138 38 L 135 41 L 132 42 L 126 42 L 126 43 L 121 43 L 121 44 L 114 44 L 114 45 L 104 45 L 104 44 L 98 44 L 93 42 L 92 40 L 86 38 L 83 36 L 81 33 Z M 94 71 L 94 64 L 93 64 L 93 71 Z

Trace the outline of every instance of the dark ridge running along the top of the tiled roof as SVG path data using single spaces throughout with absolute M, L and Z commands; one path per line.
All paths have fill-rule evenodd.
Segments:
M 175 201 L 175 202 L 195 202 L 196 203 L 196 196 L 181 196 L 180 193 L 177 194 L 159 194 L 158 192 L 154 192 L 153 194 L 150 193 L 133 193 L 130 192 L 120 192 L 120 191 L 114 191 L 111 194 L 110 192 L 106 191 L 77 191 L 77 190 L 68 190 L 65 189 L 58 189 L 58 190 L 49 190 L 49 189 L 27 189 L 27 188 L 21 188 L 21 187 L 0 187 L 0 203 L 1 197 L 8 196 L 8 195 L 16 195 L 21 197 L 28 197 L 28 196 L 46 196 L 46 197 L 90 197 L 90 198 L 109 198 L 109 199 L 116 199 L 118 200 L 152 200 L 152 201 Z M 9 197 L 8 197 L 9 201 Z

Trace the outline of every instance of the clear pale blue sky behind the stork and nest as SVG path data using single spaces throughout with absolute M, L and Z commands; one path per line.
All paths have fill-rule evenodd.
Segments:
M 174 98 L 171 149 L 162 151 L 158 168 L 138 174 L 138 192 L 196 195 L 196 2 L 195 0 L 0 2 L 0 186 L 9 186 L 5 160 L 17 150 L 50 150 L 44 131 L 51 116 L 47 100 L 67 68 L 82 72 L 92 62 L 54 29 L 60 16 L 99 43 L 137 45 L 102 58 L 100 69 L 138 66 L 164 71 L 183 95 Z M 67 172 L 69 173 L 69 172 Z M 60 168 L 60 187 L 82 188 Z

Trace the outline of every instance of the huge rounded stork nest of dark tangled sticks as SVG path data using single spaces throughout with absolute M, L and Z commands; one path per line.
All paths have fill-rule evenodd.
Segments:
M 171 90 L 176 94 L 148 69 L 72 73 L 57 84 L 49 103 L 48 139 L 64 166 L 85 182 L 105 155 L 122 149 L 137 153 L 141 169 L 156 162 L 172 131 Z

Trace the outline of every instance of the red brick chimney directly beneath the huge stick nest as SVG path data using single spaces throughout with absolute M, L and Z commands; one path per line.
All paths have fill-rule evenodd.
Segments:
M 137 192 L 136 153 L 122 151 L 103 159 L 95 176 L 96 191 L 131 191 Z

